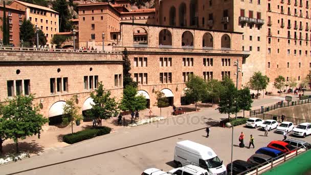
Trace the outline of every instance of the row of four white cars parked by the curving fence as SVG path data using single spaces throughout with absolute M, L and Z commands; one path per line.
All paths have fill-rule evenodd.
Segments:
M 259 118 L 249 118 L 246 122 L 246 126 L 249 127 L 260 127 L 259 129 L 264 130 L 267 126 L 267 129 L 270 131 L 276 129 L 276 133 L 283 134 L 286 130 L 287 133 L 293 132 L 293 136 L 305 138 L 308 135 L 311 135 L 311 123 L 300 123 L 298 126 L 294 127 L 292 122 L 282 122 L 279 123 L 276 120 L 262 120 Z

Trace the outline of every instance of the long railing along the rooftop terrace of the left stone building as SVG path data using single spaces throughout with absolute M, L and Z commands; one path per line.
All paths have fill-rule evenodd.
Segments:
M 102 51 L 102 50 L 79 50 L 79 49 L 49 49 L 49 48 L 16 48 L 0 47 L 3 51 L 30 51 L 30 52 L 72 52 L 72 53 L 103 53 L 103 54 L 122 54 L 120 51 Z

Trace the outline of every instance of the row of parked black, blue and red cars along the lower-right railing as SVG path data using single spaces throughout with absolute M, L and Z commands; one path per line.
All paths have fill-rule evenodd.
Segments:
M 235 160 L 232 162 L 232 174 L 250 172 L 255 166 L 264 166 L 283 157 L 285 153 L 295 152 L 296 148 L 311 149 L 311 145 L 298 139 L 286 139 L 284 141 L 271 141 L 266 147 L 258 149 L 247 161 Z M 231 171 L 231 163 L 227 165 Z

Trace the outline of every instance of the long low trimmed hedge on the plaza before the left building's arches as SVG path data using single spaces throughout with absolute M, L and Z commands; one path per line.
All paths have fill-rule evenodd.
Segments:
M 87 128 L 74 134 L 64 135 L 63 141 L 69 144 L 73 144 L 73 143 L 81 142 L 83 140 L 92 139 L 97 136 L 109 134 L 110 131 L 111 131 L 111 128 L 106 127 L 106 126 Z

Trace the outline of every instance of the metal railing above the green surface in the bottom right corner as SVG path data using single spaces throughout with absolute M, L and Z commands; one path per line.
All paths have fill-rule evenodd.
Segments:
M 303 148 L 303 146 L 297 147 L 294 149 L 294 152 L 286 152 L 278 157 L 275 157 L 271 160 L 270 163 L 266 164 L 262 163 L 260 165 L 257 165 L 251 169 L 248 169 L 246 171 L 243 171 L 239 174 L 248 174 L 248 175 L 253 175 L 253 174 L 261 174 L 264 171 L 268 171 L 269 169 L 274 168 L 275 166 L 286 162 L 288 159 L 291 159 L 293 157 L 296 157 L 298 155 L 300 155 L 302 152 L 307 151 L 305 148 Z

